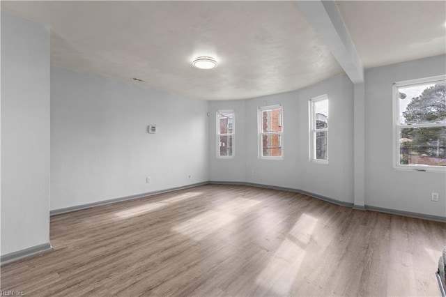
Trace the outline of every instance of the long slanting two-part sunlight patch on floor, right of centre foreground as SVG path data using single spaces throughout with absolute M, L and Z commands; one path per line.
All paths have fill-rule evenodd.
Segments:
M 256 278 L 256 284 L 274 295 L 287 295 L 305 259 L 305 247 L 310 243 L 317 219 L 302 214 L 271 257 L 268 266 Z

